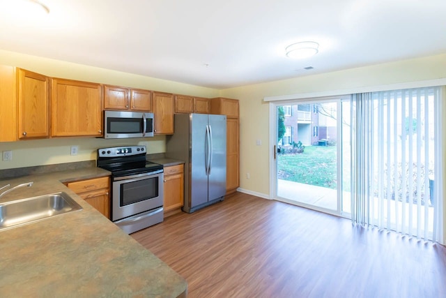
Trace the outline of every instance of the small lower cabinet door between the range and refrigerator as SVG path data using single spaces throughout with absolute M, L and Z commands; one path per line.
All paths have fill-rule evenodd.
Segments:
M 164 211 L 183 207 L 184 174 L 164 176 Z

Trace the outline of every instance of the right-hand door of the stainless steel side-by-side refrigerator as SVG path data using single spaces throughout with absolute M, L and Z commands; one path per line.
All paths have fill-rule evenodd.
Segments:
M 209 115 L 212 144 L 208 176 L 208 199 L 221 198 L 226 193 L 226 116 Z

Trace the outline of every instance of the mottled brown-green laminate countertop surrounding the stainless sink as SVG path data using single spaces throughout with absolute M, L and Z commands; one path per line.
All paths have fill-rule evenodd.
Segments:
M 0 203 L 64 191 L 83 208 L 0 231 L 1 297 L 186 296 L 183 277 L 63 185 L 109 174 L 91 167 L 0 180 L 34 182 Z

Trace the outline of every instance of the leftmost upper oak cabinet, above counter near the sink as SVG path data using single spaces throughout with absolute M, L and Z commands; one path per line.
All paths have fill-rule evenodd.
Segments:
M 49 137 L 49 77 L 0 66 L 0 142 Z

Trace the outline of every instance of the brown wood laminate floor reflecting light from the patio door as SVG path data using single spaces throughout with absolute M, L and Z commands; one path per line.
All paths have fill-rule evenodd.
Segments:
M 446 297 L 446 248 L 236 193 L 132 237 L 188 297 Z

